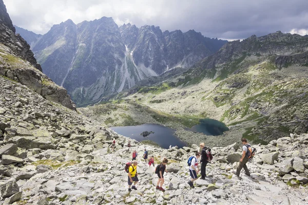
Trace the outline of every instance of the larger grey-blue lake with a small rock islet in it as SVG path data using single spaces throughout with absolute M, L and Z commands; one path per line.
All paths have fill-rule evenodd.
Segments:
M 126 126 L 126 127 L 111 127 L 110 129 L 115 132 L 137 141 L 142 140 L 151 140 L 156 142 L 160 147 L 169 149 L 169 146 L 172 147 L 178 146 L 182 148 L 186 146 L 186 143 L 181 141 L 177 136 L 174 135 L 175 130 L 164 127 L 157 124 L 143 124 L 139 126 Z M 144 131 L 153 131 L 153 134 L 150 134 L 147 137 L 140 135 Z

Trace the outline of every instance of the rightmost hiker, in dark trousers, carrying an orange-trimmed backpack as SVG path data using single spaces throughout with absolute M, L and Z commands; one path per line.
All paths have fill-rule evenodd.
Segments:
M 239 177 L 241 170 L 244 168 L 245 174 L 247 176 L 250 176 L 250 172 L 248 170 L 246 163 L 248 161 L 250 161 L 255 156 L 255 152 L 257 150 L 255 148 L 252 148 L 252 146 L 247 143 L 246 138 L 242 138 L 241 141 L 242 141 L 242 144 L 243 144 L 243 153 L 242 153 L 242 157 L 240 159 L 239 166 L 238 166 L 236 172 L 234 172 L 234 174 L 236 174 Z

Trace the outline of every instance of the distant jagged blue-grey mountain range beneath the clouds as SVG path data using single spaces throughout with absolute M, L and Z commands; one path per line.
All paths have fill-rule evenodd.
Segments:
M 217 52 L 226 40 L 200 32 L 162 32 L 159 27 L 124 24 L 111 17 L 75 25 L 67 20 L 45 35 L 16 27 L 31 45 L 43 72 L 63 86 L 79 106 L 121 92 L 142 79 L 189 68 Z

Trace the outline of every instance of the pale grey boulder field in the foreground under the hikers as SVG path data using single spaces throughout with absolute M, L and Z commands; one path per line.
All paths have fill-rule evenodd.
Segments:
M 187 159 L 199 151 L 197 145 L 145 145 L 1 76 L 0 87 L 0 204 L 297 205 L 308 200 L 307 134 L 291 134 L 266 146 L 252 144 L 258 152 L 254 163 L 247 163 L 251 176 L 233 174 L 241 157 L 238 143 L 213 147 L 206 180 L 197 179 L 191 189 Z M 145 148 L 155 165 L 164 157 L 169 160 L 165 192 L 156 190 L 154 168 L 138 157 L 139 183 L 128 192 L 125 163 L 132 150 L 142 156 Z

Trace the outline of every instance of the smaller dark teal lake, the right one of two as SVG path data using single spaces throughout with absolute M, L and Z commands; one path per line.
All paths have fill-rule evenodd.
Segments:
M 200 119 L 200 124 L 195 125 L 194 127 L 190 128 L 189 130 L 200 132 L 205 135 L 222 135 L 223 132 L 228 131 L 229 128 L 221 121 L 205 118 Z

